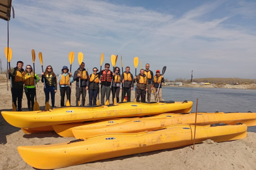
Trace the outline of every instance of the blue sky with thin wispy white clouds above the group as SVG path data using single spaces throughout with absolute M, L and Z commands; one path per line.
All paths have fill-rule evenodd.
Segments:
M 15 19 L 9 21 L 11 66 L 18 60 L 32 65 L 31 50 L 37 55 L 35 70 L 52 65 L 60 74 L 78 69 L 78 52 L 83 52 L 89 74 L 100 70 L 110 56 L 119 55 L 117 66 L 130 66 L 139 57 L 142 68 L 155 72 L 166 66 L 165 76 L 240 77 L 256 79 L 256 1 L 152 1 L 152 0 L 13 0 Z M 0 20 L 0 58 L 6 67 L 7 21 Z M 2 52 L 1 52 L 2 51 Z M 125 69 L 125 68 L 124 68 Z M 140 65 L 137 66 L 137 74 Z

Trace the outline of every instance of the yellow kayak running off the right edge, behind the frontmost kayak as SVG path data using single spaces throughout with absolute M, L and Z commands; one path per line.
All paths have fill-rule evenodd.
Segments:
M 163 114 L 165 115 L 165 114 Z M 216 123 L 227 123 L 236 125 L 236 123 L 245 123 L 248 127 L 256 125 L 256 113 L 198 113 L 197 125 L 211 125 Z M 183 116 L 130 120 L 127 122 L 110 125 L 100 128 L 73 128 L 72 132 L 76 139 L 85 139 L 95 135 L 105 133 L 137 133 L 143 131 L 157 130 L 161 127 L 178 124 L 195 124 L 195 113 Z

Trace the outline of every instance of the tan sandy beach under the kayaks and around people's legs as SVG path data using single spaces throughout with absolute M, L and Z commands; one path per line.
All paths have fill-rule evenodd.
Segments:
M 38 103 L 44 108 L 43 84 L 38 84 Z M 0 82 L 0 111 L 11 111 L 11 92 L 6 90 L 6 82 Z M 56 94 L 56 106 L 60 105 L 59 91 Z M 132 95 L 134 99 L 134 94 Z M 88 96 L 86 96 L 88 103 Z M 71 105 L 75 103 L 74 87 Z M 26 106 L 26 96 L 23 96 L 23 106 Z M 9 125 L 0 116 L 0 169 L 28 169 L 18 154 L 20 145 L 57 144 L 74 140 L 60 137 L 55 132 L 40 132 L 25 134 L 20 128 Z M 115 157 L 102 161 L 90 162 L 62 169 L 256 169 L 256 133 L 248 132 L 246 139 L 214 144 L 196 144 L 176 149 L 165 149 L 131 156 Z

